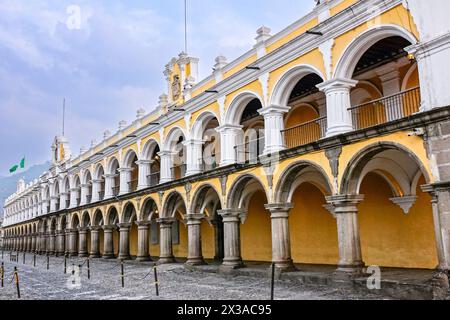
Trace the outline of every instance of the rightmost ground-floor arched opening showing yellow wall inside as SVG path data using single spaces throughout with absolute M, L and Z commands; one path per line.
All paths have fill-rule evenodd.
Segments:
M 350 162 L 343 192 L 358 205 L 363 260 L 368 265 L 433 269 L 438 264 L 428 175 L 416 157 L 395 145 L 369 147 Z

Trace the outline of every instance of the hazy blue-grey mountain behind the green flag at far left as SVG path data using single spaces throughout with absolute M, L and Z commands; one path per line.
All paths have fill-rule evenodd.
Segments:
M 0 177 L 0 217 L 3 216 L 3 205 L 6 198 L 13 194 L 17 189 L 17 181 L 20 178 L 25 179 L 25 183 L 30 183 L 50 168 L 50 162 L 34 165 L 26 171 L 21 171 L 8 177 Z

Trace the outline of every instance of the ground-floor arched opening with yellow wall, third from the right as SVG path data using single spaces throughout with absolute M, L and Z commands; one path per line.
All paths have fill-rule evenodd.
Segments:
M 228 208 L 240 212 L 241 255 L 244 261 L 271 261 L 270 214 L 264 207 L 267 196 L 261 182 L 243 176 L 230 189 Z

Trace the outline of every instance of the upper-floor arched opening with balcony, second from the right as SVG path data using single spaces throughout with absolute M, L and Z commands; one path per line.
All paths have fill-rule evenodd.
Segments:
M 286 147 L 294 148 L 325 137 L 327 110 L 325 94 L 317 88 L 323 82 L 320 75 L 304 68 L 289 75 L 284 94 L 291 110 L 285 116 L 283 134 Z

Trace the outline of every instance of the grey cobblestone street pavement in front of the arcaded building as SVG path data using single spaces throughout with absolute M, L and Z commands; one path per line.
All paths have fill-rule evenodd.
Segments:
M 86 264 L 80 277 L 72 276 L 72 263 L 83 264 L 84 259 L 68 260 L 68 274 L 64 274 L 64 258 L 23 254 L 19 262 L 10 262 L 4 254 L 5 287 L 0 288 L 0 300 L 17 299 L 12 273 L 18 267 L 20 291 L 26 300 L 267 300 L 270 298 L 270 280 L 267 278 L 233 277 L 213 273 L 193 272 L 182 264 L 158 266 L 160 296 L 155 295 L 153 270 L 150 264 L 125 263 L 125 288 L 121 287 L 120 265 L 117 261 L 91 260 L 91 279 L 87 279 Z M 75 267 L 75 270 L 77 267 Z M 149 274 L 150 273 L 150 274 Z M 147 277 L 146 277 L 147 276 Z M 78 280 L 79 279 L 79 280 Z M 73 281 L 74 280 L 74 281 Z M 74 283 L 75 282 L 75 283 Z M 276 299 L 282 300 L 347 300 L 376 299 L 375 296 L 356 296 L 327 287 L 306 287 L 290 281 L 276 282 Z

